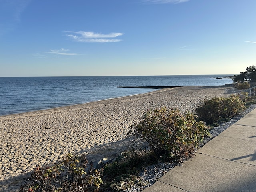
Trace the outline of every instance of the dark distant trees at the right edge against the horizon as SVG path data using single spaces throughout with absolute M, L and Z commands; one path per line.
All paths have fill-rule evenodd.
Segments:
M 246 68 L 245 72 L 240 72 L 239 75 L 235 75 L 234 78 L 232 78 L 234 83 L 244 82 L 247 79 L 250 79 L 252 82 L 256 82 L 256 66 L 249 66 Z

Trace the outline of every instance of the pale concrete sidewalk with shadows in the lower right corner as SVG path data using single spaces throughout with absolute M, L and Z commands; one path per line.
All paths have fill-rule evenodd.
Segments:
M 256 109 L 143 192 L 256 192 Z

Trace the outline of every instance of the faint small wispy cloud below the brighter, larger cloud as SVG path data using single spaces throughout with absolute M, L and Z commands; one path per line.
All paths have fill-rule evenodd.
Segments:
M 80 55 L 79 53 L 69 53 L 69 49 L 64 49 L 61 48 L 60 50 L 53 50 L 50 49 L 50 51 L 40 51 L 39 53 L 34 54 L 35 57 L 38 58 L 48 58 L 48 59 L 69 59 L 69 58 L 60 58 L 58 55 L 66 55 L 66 56 L 71 56 L 71 55 Z M 42 54 L 46 53 L 46 54 Z M 50 57 L 48 54 L 55 54 L 56 57 Z

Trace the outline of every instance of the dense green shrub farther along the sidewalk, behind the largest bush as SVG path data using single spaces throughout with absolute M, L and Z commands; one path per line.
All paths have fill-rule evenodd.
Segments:
M 206 124 L 212 124 L 220 118 L 230 118 L 244 110 L 244 104 L 245 102 L 240 100 L 237 95 L 231 95 L 227 98 L 213 97 L 202 102 L 195 112 L 200 120 L 206 122 Z

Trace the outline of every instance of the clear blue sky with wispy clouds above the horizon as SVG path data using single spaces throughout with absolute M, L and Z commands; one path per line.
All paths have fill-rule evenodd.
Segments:
M 256 0 L 0 0 L 0 76 L 239 74 Z

